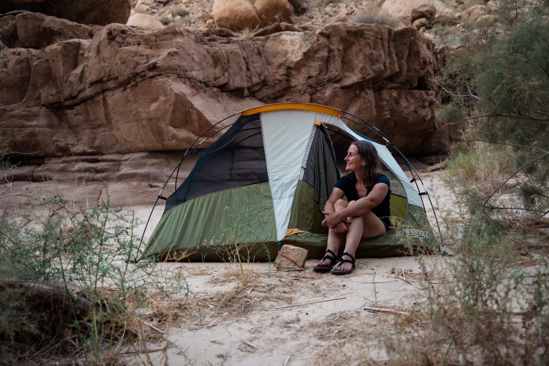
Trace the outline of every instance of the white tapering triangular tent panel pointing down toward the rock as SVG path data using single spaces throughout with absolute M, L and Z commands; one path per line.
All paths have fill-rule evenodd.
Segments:
M 261 112 L 277 240 L 284 239 L 288 230 L 295 190 L 317 115 L 320 114 L 307 110 Z

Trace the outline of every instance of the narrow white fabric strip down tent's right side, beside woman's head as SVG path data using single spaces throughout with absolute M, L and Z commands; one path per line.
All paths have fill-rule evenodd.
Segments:
M 339 127 L 357 140 L 365 140 L 365 138 L 362 138 L 356 133 L 352 132 L 351 128 L 345 125 L 345 123 L 343 123 L 343 121 L 341 121 L 341 119 L 336 116 L 323 115 L 322 123 L 324 123 L 324 125 Z M 391 155 L 389 149 L 387 149 L 385 145 L 374 142 L 372 143 L 374 147 L 376 147 L 379 159 L 383 161 L 383 163 L 389 168 L 389 170 L 393 172 L 393 174 L 395 174 L 395 176 L 402 183 L 402 186 L 404 187 L 404 190 L 406 192 L 406 198 L 408 200 L 408 203 L 411 205 L 423 207 L 423 202 L 421 201 L 421 198 L 419 197 L 416 188 L 414 188 L 412 183 L 410 183 L 410 180 L 406 177 L 406 174 L 402 171 L 393 155 Z

